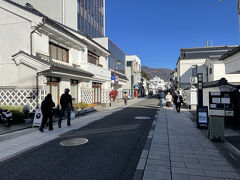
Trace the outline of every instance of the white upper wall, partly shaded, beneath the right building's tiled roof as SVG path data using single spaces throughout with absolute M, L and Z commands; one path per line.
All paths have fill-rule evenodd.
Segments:
M 192 66 L 197 65 L 198 73 L 203 73 L 203 82 L 207 80 L 207 67 L 205 65 L 206 59 L 194 59 L 194 60 L 180 60 L 179 64 L 179 76 L 180 83 L 190 83 L 190 77 L 192 77 Z

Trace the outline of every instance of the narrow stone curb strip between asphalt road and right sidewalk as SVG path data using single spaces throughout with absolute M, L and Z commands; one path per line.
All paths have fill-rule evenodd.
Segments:
M 149 151 L 150 151 L 150 148 L 151 148 L 152 139 L 153 139 L 153 136 L 154 136 L 154 131 L 155 131 L 155 128 L 156 128 L 156 123 L 158 121 L 159 114 L 160 114 L 160 110 L 158 109 L 158 111 L 156 112 L 156 115 L 154 117 L 154 120 L 152 122 L 151 129 L 148 133 L 148 137 L 147 137 L 147 140 L 145 142 L 141 157 L 138 161 L 138 165 L 137 165 L 137 168 L 135 170 L 133 180 L 142 180 L 142 178 L 143 178 L 144 170 L 145 170 L 145 167 L 146 167 L 146 164 L 147 164 L 147 159 L 148 159 Z

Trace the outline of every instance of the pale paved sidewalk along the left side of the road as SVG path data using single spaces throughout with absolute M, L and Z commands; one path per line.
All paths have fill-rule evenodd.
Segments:
M 128 106 L 131 106 L 142 100 L 144 100 L 144 98 L 132 100 L 128 104 Z M 57 123 L 54 123 L 53 131 L 45 130 L 44 133 L 41 133 L 38 128 L 35 128 L 22 130 L 15 133 L 9 133 L 6 135 L 0 135 L 0 162 L 16 156 L 17 154 L 20 154 L 26 150 L 58 138 L 60 135 L 68 131 L 84 127 L 94 121 L 100 120 L 128 106 L 123 106 L 119 104 L 115 108 L 102 109 L 100 111 L 90 113 L 85 116 L 80 116 L 71 121 L 72 126 L 70 127 L 66 125 L 66 120 L 62 122 L 62 128 L 58 128 Z

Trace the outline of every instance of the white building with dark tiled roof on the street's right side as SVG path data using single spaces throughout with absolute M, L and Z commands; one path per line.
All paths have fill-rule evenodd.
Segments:
M 184 48 L 177 62 L 179 87 L 186 95 L 186 104 L 197 105 L 197 74 L 203 74 L 203 82 L 212 82 L 226 78 L 228 82 L 240 82 L 236 74 L 227 74 L 221 57 L 233 51 L 237 46 L 213 46 Z

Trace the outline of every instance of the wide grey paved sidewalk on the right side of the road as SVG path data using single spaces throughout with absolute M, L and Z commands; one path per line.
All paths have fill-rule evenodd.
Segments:
M 188 111 L 177 113 L 164 108 L 158 113 L 134 180 L 240 179 L 211 141 L 196 128 Z

